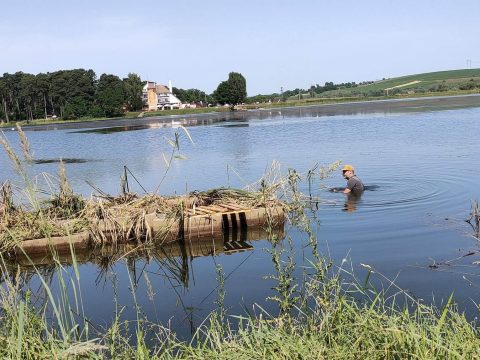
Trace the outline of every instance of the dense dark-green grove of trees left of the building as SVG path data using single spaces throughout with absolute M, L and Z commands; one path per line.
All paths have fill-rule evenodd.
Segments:
M 124 79 L 91 69 L 0 77 L 0 119 L 7 122 L 47 118 L 115 117 L 143 107 L 144 82 L 134 73 Z

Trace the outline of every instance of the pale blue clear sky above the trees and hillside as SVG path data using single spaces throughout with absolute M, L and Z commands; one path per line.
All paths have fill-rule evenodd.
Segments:
M 480 68 L 478 0 L 0 0 L 0 9 L 0 74 L 132 72 L 211 93 L 236 71 L 251 96 Z

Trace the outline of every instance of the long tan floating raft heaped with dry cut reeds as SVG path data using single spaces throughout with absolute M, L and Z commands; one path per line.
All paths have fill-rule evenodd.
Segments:
M 99 245 L 205 239 L 249 228 L 283 226 L 285 205 L 265 193 L 215 189 L 187 196 L 132 193 L 84 199 L 62 191 L 40 211 L 15 207 L 2 187 L 3 252 L 43 256 Z M 267 195 L 267 196 L 266 196 Z

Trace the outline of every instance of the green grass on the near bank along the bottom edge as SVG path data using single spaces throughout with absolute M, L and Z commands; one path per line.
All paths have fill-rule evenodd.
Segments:
M 161 325 L 140 318 L 136 323 L 122 322 L 120 315 L 103 332 L 93 333 L 91 329 L 89 332 L 86 330 L 89 323 L 74 315 L 78 314 L 78 304 L 69 304 L 65 299 L 55 302 L 50 297 L 55 314 L 53 323 L 56 322 L 52 326 L 46 312 L 35 310 L 30 304 L 28 294 L 20 295 L 13 283 L 7 282 L 7 289 L 1 292 L 0 356 L 23 359 L 480 358 L 478 329 L 450 301 L 442 310 L 420 303 L 399 308 L 388 305 L 383 294 L 371 291 L 364 292 L 364 300 L 359 302 L 342 291 L 338 279 L 323 284 L 311 279 L 304 285 L 310 290 L 308 299 L 301 300 L 309 300 L 308 307 L 302 306 L 305 302 L 297 298 L 292 311 L 277 316 L 260 312 L 256 317 L 224 317 L 217 311 L 199 329 L 196 341 L 182 342 Z M 80 321 L 73 321 L 75 318 Z M 238 325 L 236 330 L 229 322 Z M 133 327 L 134 335 L 128 332 L 129 327 Z

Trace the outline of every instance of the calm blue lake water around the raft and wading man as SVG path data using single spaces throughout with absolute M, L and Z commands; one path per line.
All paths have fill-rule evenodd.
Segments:
M 322 199 L 314 226 L 321 250 L 337 264 L 351 259 L 360 277 L 365 274 L 360 264 L 368 264 L 426 302 L 439 302 L 453 292 L 460 306 L 475 315 L 480 269 L 474 263 L 480 260 L 479 249 L 464 219 L 470 201 L 480 195 L 480 108 L 433 111 L 438 109 L 412 106 L 328 116 L 316 109 L 215 119 L 188 127 L 194 143 L 182 135 L 180 150 L 187 159 L 174 162 L 161 193 L 243 187 L 258 180 L 274 160 L 284 172 L 295 168 L 301 173 L 317 162 L 343 160 L 353 164 L 371 188 L 355 203 L 343 194 L 313 189 L 313 195 Z M 31 171 L 54 174 L 56 159 L 69 159 L 65 166 L 73 188 L 88 195 L 93 189 L 86 180 L 117 193 L 126 165 L 144 188 L 153 190 L 165 173 L 162 154 L 168 158 L 171 152 L 165 138 L 182 132 L 173 125 L 136 131 L 29 131 L 37 159 Z M 17 146 L 14 132 L 6 136 Z M 4 154 L 0 169 L 0 181 L 15 177 Z M 328 187 L 344 183 L 339 172 L 325 181 Z M 138 184 L 131 181 L 131 186 L 142 193 Z M 307 191 L 305 184 L 302 190 Z M 285 231 L 294 239 L 301 263 L 305 235 L 290 226 Z M 250 240 L 247 245 L 252 248 L 227 255 L 220 241 L 215 243 L 216 256 L 177 257 L 174 266 L 161 256 L 124 258 L 107 271 L 86 262 L 80 276 L 87 315 L 108 324 L 116 294 L 119 304 L 126 306 L 125 317 L 135 318 L 133 291 L 151 320 L 188 337 L 215 307 L 216 264 L 227 274 L 230 313 L 243 314 L 243 307 L 252 309 L 255 302 L 273 308 L 265 301 L 272 287 L 264 279 L 273 272 L 265 251 L 270 245 L 265 240 Z M 204 247 L 193 255 L 212 253 L 211 243 Z M 55 284 L 55 275 L 52 281 Z M 35 276 L 33 284 L 38 287 Z M 149 289 L 155 293 L 153 300 Z

